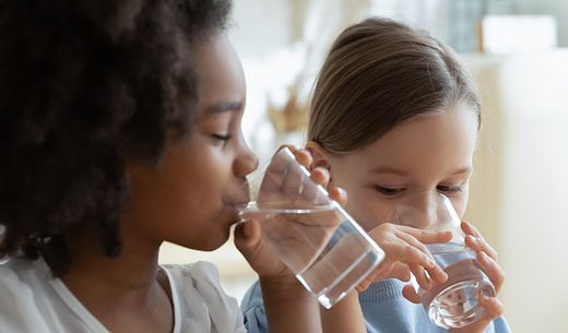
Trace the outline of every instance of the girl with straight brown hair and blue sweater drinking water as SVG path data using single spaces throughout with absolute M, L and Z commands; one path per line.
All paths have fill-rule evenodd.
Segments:
M 481 103 L 457 56 L 424 32 L 387 19 L 368 19 L 334 41 L 316 82 L 307 148 L 313 166 L 348 194 L 347 212 L 374 238 L 384 230 L 398 203 L 416 193 L 442 193 L 463 216 Z M 498 292 L 504 273 L 495 250 L 478 230 L 462 223 L 465 243 Z M 384 246 L 384 242 L 382 242 Z M 359 294 L 367 332 L 447 332 L 431 323 L 419 297 L 402 281 L 413 265 L 378 270 Z M 389 278 L 390 277 L 390 278 Z M 402 281 L 401 281 L 402 280 Z M 269 332 L 255 284 L 241 308 L 251 332 Z M 509 332 L 495 297 L 480 296 L 484 317 L 450 332 Z

